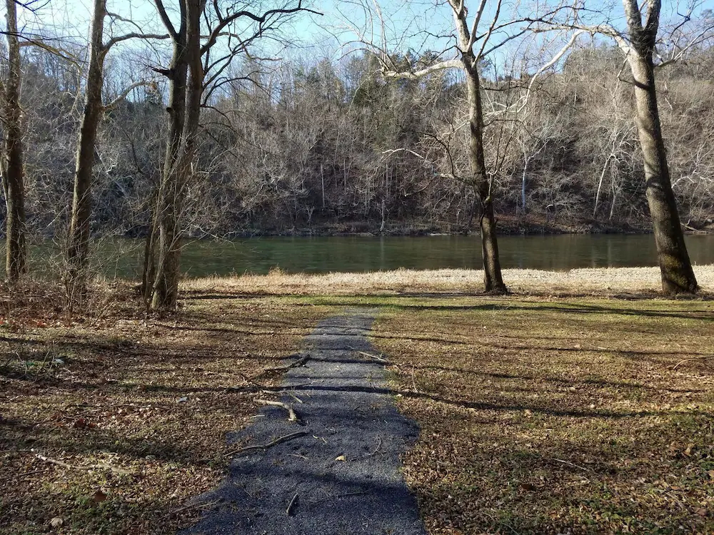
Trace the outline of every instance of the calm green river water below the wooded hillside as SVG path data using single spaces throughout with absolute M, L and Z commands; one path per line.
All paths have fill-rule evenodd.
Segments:
M 686 237 L 692 262 L 714 263 L 714 235 Z M 575 267 L 656 265 L 652 235 L 545 235 L 498 238 L 503 267 L 569 270 Z M 115 238 L 96 246 L 99 270 L 110 277 L 137 278 L 141 273 L 143 240 Z M 51 243 L 31 248 L 33 269 L 59 269 L 59 248 Z M 48 259 L 54 258 L 48 262 Z M 286 272 L 426 270 L 481 267 L 478 236 L 331 238 L 248 238 L 231 241 L 193 240 L 181 258 L 189 277 Z

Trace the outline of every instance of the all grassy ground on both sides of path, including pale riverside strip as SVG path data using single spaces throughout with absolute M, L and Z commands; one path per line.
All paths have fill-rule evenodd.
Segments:
M 714 267 L 698 278 L 712 290 Z M 644 268 L 507 270 L 518 294 L 499 298 L 480 280 L 191 280 L 164 318 L 123 285 L 74 318 L 51 289 L 0 295 L 0 534 L 190 524 L 257 412 L 248 378 L 351 305 L 382 307 L 373 340 L 421 425 L 404 473 L 431 535 L 714 531 L 714 302 L 660 299 Z

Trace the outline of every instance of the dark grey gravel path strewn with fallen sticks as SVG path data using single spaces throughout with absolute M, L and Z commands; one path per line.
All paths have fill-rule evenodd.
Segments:
M 366 339 L 374 313 L 331 317 L 307 337 L 309 359 L 283 383 L 303 401 L 282 398 L 301 424 L 268 407 L 235 439 L 250 446 L 306 434 L 233 459 L 223 484 L 199 497 L 218 505 L 182 534 L 425 534 L 399 461 L 416 424 L 397 412 L 383 365 L 359 353 L 375 353 Z

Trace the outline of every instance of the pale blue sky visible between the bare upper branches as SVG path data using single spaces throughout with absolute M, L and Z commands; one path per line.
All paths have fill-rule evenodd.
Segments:
M 304 1 L 304 0 L 303 0 Z M 310 0 L 308 0 L 310 1 Z M 374 0 L 311 0 L 311 8 L 322 12 L 323 16 L 306 15 L 298 17 L 291 29 L 286 32 L 288 41 L 298 47 L 297 51 L 288 54 L 298 56 L 327 56 L 336 59 L 347 51 L 364 48 L 358 43 L 357 33 L 363 33 L 366 40 L 381 41 L 379 34 L 381 25 L 372 8 L 371 13 L 364 9 L 362 2 L 372 7 Z M 508 19 L 508 14 L 513 12 L 513 6 L 528 11 L 528 6 L 539 5 L 540 9 L 556 0 L 503 0 L 502 19 Z M 610 24 L 621 26 L 623 24 L 622 6 L 620 0 L 585 0 L 591 9 L 598 9 L 608 13 Z M 663 1 L 663 17 L 677 16 L 677 11 L 685 11 L 685 1 Z M 37 0 L 40 8 L 36 14 L 25 12 L 21 15 L 21 24 L 26 24 L 27 29 L 43 27 L 43 33 L 49 32 L 59 36 L 70 36 L 78 42 L 86 42 L 89 34 L 89 17 L 91 15 L 92 0 Z M 270 0 L 264 0 L 268 4 Z M 176 0 L 164 0 L 166 8 L 176 4 Z M 246 0 L 247 3 L 247 0 Z M 439 35 L 450 34 L 453 29 L 451 11 L 444 5 L 446 0 L 380 0 L 380 8 L 385 21 L 385 34 L 388 48 L 391 51 L 406 52 L 448 49 L 451 46 L 449 39 L 439 38 Z M 515 3 L 515 4 L 514 4 Z M 257 2 L 251 1 L 251 5 Z M 476 11 L 476 0 L 467 0 L 467 6 Z M 493 1 L 487 4 L 484 21 L 493 15 Z M 136 21 L 143 31 L 151 33 L 164 33 L 163 27 L 156 15 L 154 3 L 151 0 L 107 0 L 109 11 L 114 11 L 127 19 Z M 698 11 L 701 9 L 714 9 L 714 0 L 700 0 Z M 175 10 L 174 10 L 175 13 Z M 471 14 L 473 16 L 473 13 Z M 371 19 L 371 20 L 370 20 Z M 482 23 L 483 24 L 483 23 Z M 488 24 L 488 22 L 486 22 Z M 107 27 L 106 33 L 124 34 L 126 31 L 136 31 L 126 24 L 116 27 Z M 498 39 L 498 36 L 495 36 Z M 514 50 L 515 44 L 509 43 L 493 58 L 496 63 L 508 63 L 513 56 L 531 54 L 533 61 L 540 61 L 538 49 L 542 49 L 545 41 L 553 41 L 551 49 L 560 48 L 562 36 L 541 37 L 540 41 L 531 42 L 531 51 Z M 496 41 L 497 42 L 497 41 Z M 157 46 L 156 54 L 164 54 L 166 43 Z M 524 45 L 519 45 L 524 46 Z M 549 53 L 549 52 L 548 52 Z M 279 54 L 286 54 L 284 51 Z M 545 53 L 543 53 L 545 54 Z M 447 51 L 448 56 L 453 56 L 452 51 Z

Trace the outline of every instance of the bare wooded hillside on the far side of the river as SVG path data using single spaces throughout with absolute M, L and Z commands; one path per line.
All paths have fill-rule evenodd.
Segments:
M 429 56 L 403 61 L 413 67 Z M 27 223 L 33 233 L 57 235 L 71 207 L 81 73 L 41 49 L 28 49 L 23 60 Z M 502 230 L 649 228 L 633 94 L 618 76 L 622 62 L 615 46 L 574 48 L 562 68 L 531 88 L 523 109 L 528 76 L 482 66 L 486 156 Z M 107 101 L 123 90 L 131 59 L 116 64 L 104 80 Z M 473 227 L 475 199 L 459 143 L 463 80 L 445 73 L 386 78 L 370 52 L 341 61 L 298 56 L 267 67 L 241 61 L 241 79 L 201 113 L 201 173 L 187 199 L 188 234 Z M 673 189 L 692 228 L 710 225 L 714 213 L 713 67 L 714 49 L 703 46 L 658 71 Z M 137 88 L 104 116 L 96 233 L 146 235 L 167 136 L 165 100 L 161 86 Z

